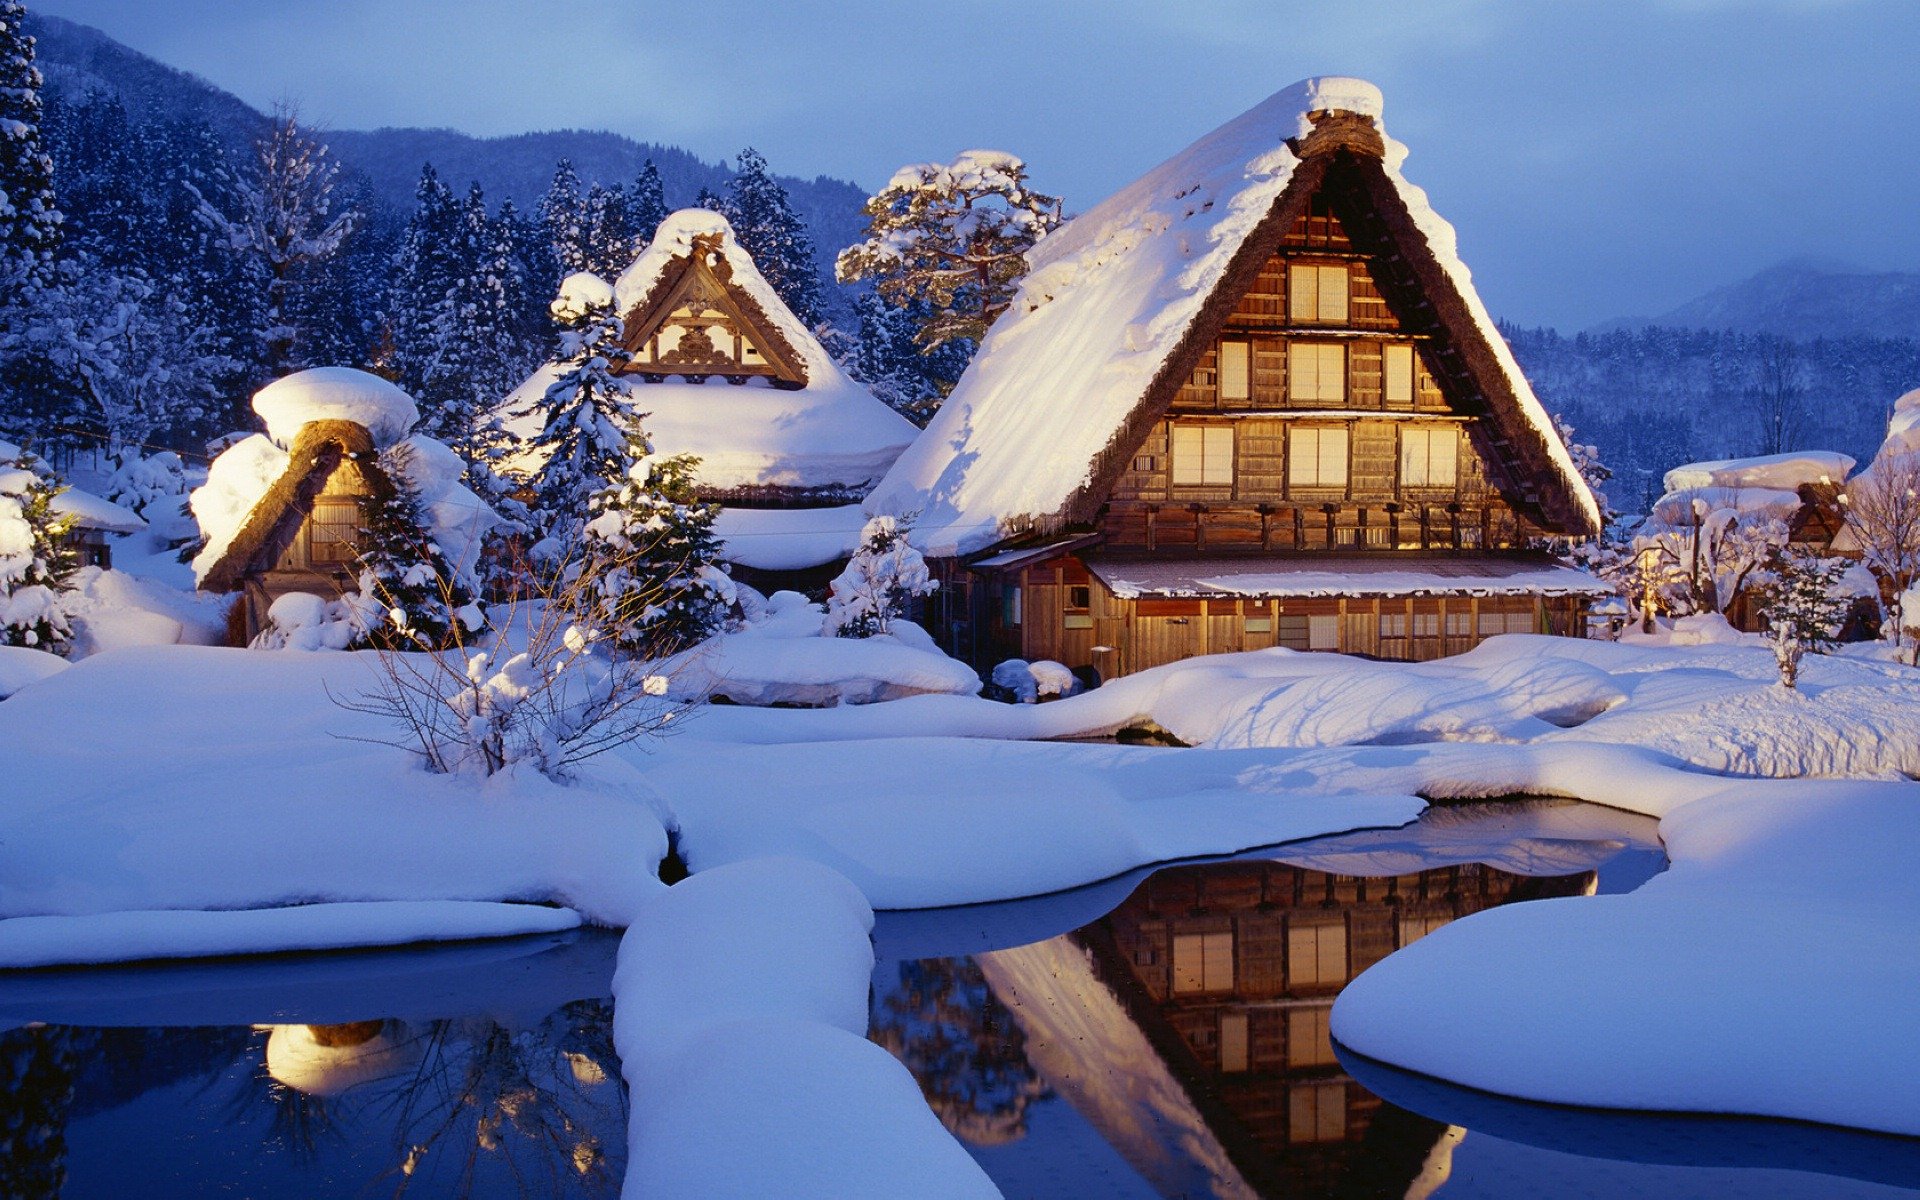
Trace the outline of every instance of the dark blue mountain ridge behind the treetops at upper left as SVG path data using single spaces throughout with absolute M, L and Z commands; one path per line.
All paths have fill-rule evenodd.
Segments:
M 134 119 L 198 117 L 236 152 L 250 146 L 265 123 L 265 115 L 238 96 L 123 46 L 90 25 L 33 13 L 27 31 L 38 38 L 36 58 L 50 104 L 79 104 L 92 92 L 111 92 Z M 492 204 L 513 200 L 522 211 L 547 190 L 563 157 L 570 157 L 589 184 L 630 182 L 651 157 L 666 202 L 676 207 L 693 204 L 701 188 L 722 192 L 733 175 L 728 163 L 708 163 L 678 146 L 580 129 L 505 138 L 476 138 L 451 129 L 323 131 L 323 136 L 340 163 L 365 177 L 374 196 L 399 215 L 413 207 L 422 163 L 434 163 L 440 177 L 459 190 L 478 182 Z M 860 238 L 866 190 L 824 175 L 781 175 L 780 182 L 812 230 L 822 273 L 831 278 L 833 257 Z

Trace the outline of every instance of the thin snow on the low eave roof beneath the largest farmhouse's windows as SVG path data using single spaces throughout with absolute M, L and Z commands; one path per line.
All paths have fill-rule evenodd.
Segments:
M 1106 559 L 1081 555 L 1121 599 L 1190 595 L 1607 595 L 1596 576 L 1544 559 L 1313 555 L 1311 559 Z

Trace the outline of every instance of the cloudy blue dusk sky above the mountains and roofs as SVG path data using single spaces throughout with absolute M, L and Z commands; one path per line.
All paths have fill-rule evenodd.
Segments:
M 1653 315 L 1788 257 L 1920 269 L 1914 0 L 31 6 L 336 129 L 611 129 L 862 186 L 987 146 L 1069 211 L 1361 75 L 1505 319 Z

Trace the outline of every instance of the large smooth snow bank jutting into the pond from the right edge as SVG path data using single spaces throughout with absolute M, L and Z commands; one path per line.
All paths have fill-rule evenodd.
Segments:
M 1453 922 L 1348 985 L 1332 1033 L 1528 1100 L 1920 1135 L 1916 791 L 1701 780 L 1668 872 Z

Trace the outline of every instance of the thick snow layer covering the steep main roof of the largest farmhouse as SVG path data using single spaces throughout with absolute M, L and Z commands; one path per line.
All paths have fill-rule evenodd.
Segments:
M 1012 307 L 868 509 L 918 509 L 925 547 L 941 555 L 985 549 L 1025 522 L 1058 518 L 1286 192 L 1302 163 L 1286 138 L 1313 132 L 1309 113 L 1377 123 L 1380 108 L 1379 88 L 1361 79 L 1296 83 L 1048 234 L 1029 253 L 1031 273 Z M 1380 140 L 1384 173 L 1413 227 L 1574 509 L 1597 530 L 1599 507 L 1475 294 L 1453 227 L 1402 179 L 1405 148 L 1384 131 Z

